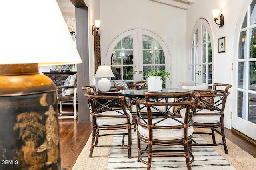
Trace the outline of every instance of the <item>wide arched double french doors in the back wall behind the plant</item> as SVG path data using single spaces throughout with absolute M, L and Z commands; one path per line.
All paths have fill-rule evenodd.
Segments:
M 132 83 L 141 81 L 149 70 L 170 72 L 170 54 L 162 39 L 156 34 L 133 29 L 116 37 L 111 43 L 106 57 L 115 75 L 112 80 L 125 80 Z M 170 82 L 166 81 L 166 87 Z

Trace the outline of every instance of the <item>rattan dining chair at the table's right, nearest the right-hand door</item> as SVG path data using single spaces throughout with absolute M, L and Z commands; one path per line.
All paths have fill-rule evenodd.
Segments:
M 212 135 L 212 143 L 196 143 L 193 140 L 192 146 L 223 145 L 225 153 L 228 154 L 224 133 L 224 113 L 229 94 L 228 89 L 231 87 L 231 84 L 214 83 L 212 89 L 194 90 L 194 94 L 197 95 L 195 97 L 197 107 L 192 120 L 194 121 L 194 128 L 198 128 L 198 131 L 194 132 L 194 134 Z M 184 111 L 181 111 L 181 115 L 184 117 Z M 211 129 L 211 132 L 203 131 L 205 128 Z M 216 143 L 214 132 L 221 135 L 222 142 Z

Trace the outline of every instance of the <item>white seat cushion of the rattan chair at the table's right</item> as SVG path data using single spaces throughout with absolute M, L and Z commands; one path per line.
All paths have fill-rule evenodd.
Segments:
M 185 116 L 185 111 L 186 109 L 182 109 L 180 111 L 180 115 L 182 117 Z M 197 113 L 216 113 L 216 112 L 219 112 L 219 111 L 216 111 L 216 110 L 211 111 L 208 109 L 204 109 L 204 110 L 198 111 Z M 220 122 L 220 115 L 193 115 L 192 119 L 196 123 L 218 123 Z

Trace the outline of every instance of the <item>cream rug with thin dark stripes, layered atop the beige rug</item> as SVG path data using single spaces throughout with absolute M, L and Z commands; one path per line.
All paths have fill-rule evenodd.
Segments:
M 116 133 L 116 131 L 115 131 Z M 193 135 L 193 139 L 198 143 L 207 143 L 200 135 Z M 122 136 L 115 136 L 113 144 L 120 143 Z M 127 140 L 126 140 L 127 141 Z M 146 143 L 142 142 L 141 147 L 145 148 Z M 153 150 L 182 150 L 181 145 L 162 147 L 153 145 Z M 192 170 L 235 170 L 235 168 L 226 161 L 218 152 L 212 147 L 202 146 L 193 147 L 192 154 L 194 155 L 194 162 L 191 164 Z M 143 154 L 142 158 L 147 160 L 147 154 Z M 137 134 L 132 132 L 132 158 L 128 159 L 127 149 L 112 148 L 108 159 L 107 170 L 144 170 L 147 168 L 146 164 L 137 161 Z M 184 157 L 159 157 L 152 158 L 151 169 L 154 170 L 186 170 L 186 160 Z

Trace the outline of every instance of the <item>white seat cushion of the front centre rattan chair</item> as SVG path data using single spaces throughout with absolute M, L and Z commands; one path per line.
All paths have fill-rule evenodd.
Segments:
M 145 119 L 148 122 L 148 119 Z M 152 119 L 152 122 L 155 123 L 156 121 L 161 120 L 161 118 Z M 181 122 L 184 122 L 184 119 L 178 118 Z M 144 123 L 140 120 L 141 123 Z M 175 121 L 171 118 L 165 119 L 164 121 L 157 123 L 158 126 L 176 126 L 182 125 L 178 121 Z M 148 129 L 142 127 L 138 124 L 138 131 L 144 137 L 148 137 Z M 184 137 L 184 129 L 153 129 L 153 139 L 160 139 L 160 140 L 174 140 L 174 139 L 182 139 Z M 194 129 L 193 126 L 188 128 L 188 136 L 192 135 Z

